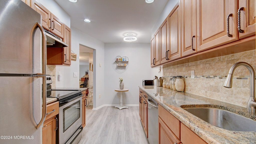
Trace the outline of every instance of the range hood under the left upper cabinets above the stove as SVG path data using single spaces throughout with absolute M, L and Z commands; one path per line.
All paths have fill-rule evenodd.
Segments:
M 55 34 L 45 30 L 46 34 L 46 47 L 68 47 L 68 44 L 62 42 L 62 38 L 59 38 Z

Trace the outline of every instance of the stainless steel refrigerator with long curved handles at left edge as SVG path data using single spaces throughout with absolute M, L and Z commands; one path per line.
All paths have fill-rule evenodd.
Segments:
M 20 0 L 1 0 L 0 143 L 42 143 L 45 74 L 41 15 Z

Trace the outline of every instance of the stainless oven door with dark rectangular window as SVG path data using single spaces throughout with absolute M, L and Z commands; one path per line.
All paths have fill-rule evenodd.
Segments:
M 64 144 L 82 125 L 82 97 L 59 107 L 59 144 Z

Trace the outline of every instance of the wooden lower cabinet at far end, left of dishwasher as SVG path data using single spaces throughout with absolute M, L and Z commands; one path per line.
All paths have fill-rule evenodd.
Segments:
M 141 95 L 143 94 L 143 95 Z M 148 117 L 147 117 L 147 97 L 144 96 L 144 91 L 140 89 L 139 94 L 139 110 L 140 110 L 140 119 L 146 136 L 148 137 Z

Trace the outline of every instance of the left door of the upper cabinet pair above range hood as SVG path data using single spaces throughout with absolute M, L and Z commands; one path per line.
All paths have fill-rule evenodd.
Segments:
M 41 5 L 38 1 L 34 2 L 34 9 L 42 16 L 42 26 L 50 30 L 51 27 L 51 13 L 46 9 L 43 5 Z

